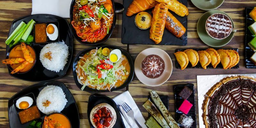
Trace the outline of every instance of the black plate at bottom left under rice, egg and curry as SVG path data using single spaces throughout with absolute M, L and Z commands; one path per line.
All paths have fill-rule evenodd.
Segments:
M 39 92 L 47 85 L 56 85 L 61 87 L 61 89 L 66 95 L 66 99 L 68 100 L 65 108 L 61 111 L 61 113 L 68 117 L 69 121 L 71 122 L 71 126 L 73 128 L 80 128 L 80 120 L 79 120 L 79 113 L 76 105 L 76 100 L 74 99 L 73 95 L 68 90 L 68 88 L 61 82 L 42 82 L 42 83 L 34 84 L 26 87 L 25 89 L 21 90 L 20 92 L 12 96 L 8 100 L 8 118 L 9 118 L 10 128 L 27 128 L 27 126 L 32 122 L 30 121 L 25 124 L 20 123 L 18 113 L 15 109 L 16 105 L 14 104 L 13 101 L 16 98 L 19 98 L 31 92 L 34 94 L 35 98 L 37 98 Z M 41 113 L 41 118 L 37 119 L 37 121 L 41 122 L 44 119 L 44 116 L 46 114 L 43 114 L 42 112 L 40 113 Z

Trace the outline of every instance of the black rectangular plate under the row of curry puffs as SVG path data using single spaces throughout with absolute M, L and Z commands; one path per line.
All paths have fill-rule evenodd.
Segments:
M 189 49 L 193 49 L 195 50 L 196 52 L 197 51 L 202 51 L 202 50 L 206 50 L 207 48 L 189 48 Z M 215 50 L 218 50 L 218 49 L 224 49 L 224 50 L 235 50 L 237 53 L 238 53 L 238 48 L 214 48 Z M 186 49 L 176 49 L 175 52 L 179 52 L 179 51 L 185 51 Z M 181 68 L 180 67 L 180 64 L 178 63 L 178 61 L 176 60 L 176 68 Z M 191 63 L 188 62 L 188 66 L 187 68 L 202 68 L 200 62 L 197 63 L 197 65 L 195 67 L 192 67 Z M 207 68 L 213 68 L 212 64 L 210 63 Z M 221 63 L 219 63 L 217 65 L 216 68 L 223 68 L 223 66 L 221 65 Z M 239 62 L 236 64 L 236 66 L 232 67 L 232 68 L 239 68 Z

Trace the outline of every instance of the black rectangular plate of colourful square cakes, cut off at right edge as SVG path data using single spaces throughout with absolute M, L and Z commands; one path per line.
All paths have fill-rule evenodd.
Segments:
M 255 21 L 249 16 L 249 13 L 253 8 L 245 8 L 245 68 L 256 68 L 256 66 L 252 63 L 250 58 L 252 57 L 254 51 L 249 47 L 248 43 L 253 39 L 253 35 L 248 29 L 252 23 Z

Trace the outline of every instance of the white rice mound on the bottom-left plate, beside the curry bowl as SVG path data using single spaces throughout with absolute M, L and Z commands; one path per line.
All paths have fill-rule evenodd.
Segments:
M 48 107 L 43 106 L 46 100 L 51 102 Z M 68 100 L 63 90 L 59 86 L 54 85 L 44 87 L 36 98 L 36 106 L 44 114 L 62 111 L 67 102 Z

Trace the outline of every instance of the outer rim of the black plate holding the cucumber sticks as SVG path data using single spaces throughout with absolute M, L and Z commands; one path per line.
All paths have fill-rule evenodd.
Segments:
M 14 19 L 14 20 L 12 20 L 12 24 L 11 24 L 11 26 L 10 26 L 8 36 L 10 35 L 10 30 L 11 30 L 12 25 L 13 25 L 14 22 L 17 22 L 18 20 L 22 20 L 22 19 L 24 19 L 24 18 L 26 18 L 26 17 L 29 17 L 29 16 L 35 16 L 35 15 L 52 15 L 52 14 L 33 14 L 33 15 L 26 15 L 26 16 L 23 16 L 23 17 Z M 65 20 L 66 23 L 68 24 L 68 21 L 67 21 L 66 19 L 64 19 L 64 18 L 62 18 L 62 17 L 60 17 L 60 16 L 56 16 L 56 15 L 52 15 L 52 16 L 58 17 L 58 18 L 60 18 L 60 19 L 63 19 L 63 20 Z M 69 24 L 68 24 L 68 25 L 69 25 Z M 70 33 L 72 33 L 72 31 L 71 31 L 71 29 L 70 29 L 69 26 L 68 26 L 68 30 L 70 31 Z M 72 34 L 71 34 L 70 38 L 71 38 L 71 39 L 70 39 L 70 43 L 72 44 L 72 54 L 73 54 L 74 43 L 73 43 Z M 31 46 L 31 45 L 30 45 L 30 46 Z M 31 47 L 32 47 L 32 46 L 31 46 Z M 9 48 L 9 49 L 10 49 L 10 48 Z M 7 51 L 7 45 L 6 45 L 6 56 L 5 56 L 5 58 L 7 57 L 7 53 L 8 53 L 8 51 Z M 70 54 L 70 53 L 69 53 L 69 54 Z M 68 68 L 69 68 L 69 66 L 70 66 L 71 60 L 72 60 L 72 55 L 71 55 L 71 57 L 70 57 L 70 62 L 67 63 L 67 64 L 68 64 L 68 65 L 67 65 Z M 32 68 L 31 68 L 31 69 L 32 69 Z M 67 74 L 67 72 L 65 72 L 63 75 L 61 75 L 61 76 L 59 76 L 59 77 L 56 77 L 56 78 L 53 78 L 53 79 L 44 80 L 44 81 L 32 81 L 32 80 L 21 79 L 21 78 L 19 78 L 19 77 L 13 76 L 13 75 L 11 74 L 11 71 L 9 70 L 9 68 L 8 68 L 8 72 L 9 72 L 9 75 L 12 76 L 12 77 L 14 77 L 14 78 L 17 78 L 17 79 L 20 79 L 20 80 L 29 81 L 29 82 L 47 82 L 47 81 L 52 81 L 52 80 L 59 79 L 59 78 L 65 76 L 65 75 Z

